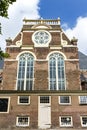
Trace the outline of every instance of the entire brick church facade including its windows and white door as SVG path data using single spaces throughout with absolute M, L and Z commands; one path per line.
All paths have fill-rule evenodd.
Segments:
M 0 128 L 87 129 L 87 90 L 80 79 L 77 39 L 60 19 L 28 20 L 6 40 L 0 84 Z

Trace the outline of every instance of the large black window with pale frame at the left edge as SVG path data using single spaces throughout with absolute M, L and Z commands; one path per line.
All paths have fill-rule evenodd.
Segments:
M 8 113 L 10 106 L 10 97 L 0 97 L 0 113 Z

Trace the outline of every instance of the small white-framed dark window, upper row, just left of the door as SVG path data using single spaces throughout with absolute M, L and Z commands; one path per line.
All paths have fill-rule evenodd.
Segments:
M 30 104 L 30 96 L 18 96 L 18 104 L 20 105 Z

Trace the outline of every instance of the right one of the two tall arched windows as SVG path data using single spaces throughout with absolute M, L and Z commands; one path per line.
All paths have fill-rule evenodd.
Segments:
M 49 57 L 49 86 L 50 90 L 65 90 L 64 57 L 59 53 Z

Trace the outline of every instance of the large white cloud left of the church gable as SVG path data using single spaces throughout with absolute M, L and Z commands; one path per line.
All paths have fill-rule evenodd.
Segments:
M 5 49 L 5 39 L 8 37 L 14 38 L 20 32 L 23 19 L 38 19 L 40 0 L 17 0 L 13 5 L 9 6 L 9 19 L 0 17 L 2 24 L 2 34 L 0 36 L 0 47 Z

